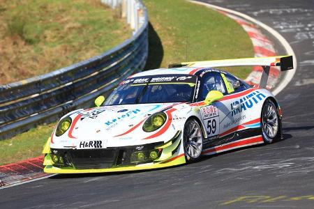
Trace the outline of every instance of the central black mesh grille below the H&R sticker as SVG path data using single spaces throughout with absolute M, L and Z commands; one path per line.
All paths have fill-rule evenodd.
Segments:
M 68 160 L 75 169 L 107 169 L 116 161 L 116 150 L 69 150 Z

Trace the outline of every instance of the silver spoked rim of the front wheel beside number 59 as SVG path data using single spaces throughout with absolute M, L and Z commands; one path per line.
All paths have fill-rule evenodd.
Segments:
M 196 159 L 202 153 L 202 130 L 196 121 L 184 125 L 184 148 L 191 158 Z

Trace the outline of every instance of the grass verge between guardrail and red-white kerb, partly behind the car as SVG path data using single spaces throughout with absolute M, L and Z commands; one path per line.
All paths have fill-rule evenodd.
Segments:
M 188 61 L 253 56 L 253 45 L 247 33 L 220 13 L 184 0 L 144 0 L 144 3 L 151 22 L 147 69 L 186 61 L 186 44 Z M 251 68 L 241 68 L 234 74 L 245 78 L 249 72 Z M 40 125 L 0 141 L 0 164 L 40 155 L 53 126 Z

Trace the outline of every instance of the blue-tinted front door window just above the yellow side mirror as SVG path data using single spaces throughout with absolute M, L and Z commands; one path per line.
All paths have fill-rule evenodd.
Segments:
M 226 94 L 223 78 L 218 72 L 208 72 L 204 75 L 200 89 L 201 93 L 198 99 L 199 101 L 205 100 L 207 93 L 212 90 L 220 91 L 221 93 Z

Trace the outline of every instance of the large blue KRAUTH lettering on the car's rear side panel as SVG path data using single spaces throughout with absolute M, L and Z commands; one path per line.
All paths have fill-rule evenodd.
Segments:
M 241 111 L 251 109 L 255 104 L 262 101 L 266 96 L 259 91 L 255 91 L 241 98 L 239 101 L 235 101 L 231 104 L 231 116 L 239 114 Z

